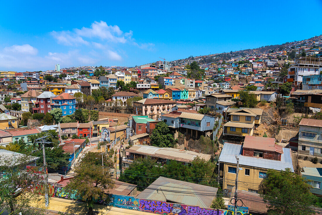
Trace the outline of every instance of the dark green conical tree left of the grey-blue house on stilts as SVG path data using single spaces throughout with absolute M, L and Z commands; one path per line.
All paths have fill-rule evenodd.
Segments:
M 174 147 L 174 138 L 165 122 L 158 122 L 150 135 L 150 143 L 156 147 Z

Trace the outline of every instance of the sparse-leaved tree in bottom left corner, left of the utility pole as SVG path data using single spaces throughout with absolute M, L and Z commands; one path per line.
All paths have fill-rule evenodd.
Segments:
M 0 180 L 0 208 L 8 209 L 10 214 L 17 215 L 18 212 L 23 215 L 42 214 L 41 210 L 32 208 L 31 203 L 38 202 L 38 198 L 43 194 L 44 190 L 35 188 L 36 185 L 43 187 L 44 183 L 41 178 L 43 172 L 39 167 L 26 169 L 30 159 L 29 155 L 16 156 L 15 166 L 13 166 L 12 158 L 0 157 L 1 172 L 5 173 Z M 41 174 L 35 174 L 34 171 Z

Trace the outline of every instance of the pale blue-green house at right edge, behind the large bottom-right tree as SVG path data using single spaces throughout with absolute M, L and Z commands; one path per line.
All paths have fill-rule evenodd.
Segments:
M 300 171 L 300 175 L 303 178 L 309 180 L 307 183 L 312 186 L 310 192 L 321 196 L 321 183 L 322 183 L 322 168 L 316 167 L 303 167 L 303 171 Z

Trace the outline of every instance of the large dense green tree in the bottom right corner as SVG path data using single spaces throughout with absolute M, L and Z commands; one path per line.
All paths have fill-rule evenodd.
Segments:
M 310 209 L 316 201 L 316 197 L 310 192 L 311 186 L 305 178 L 292 173 L 290 169 L 268 170 L 261 187 L 261 197 L 269 204 L 269 215 L 315 214 L 315 211 Z

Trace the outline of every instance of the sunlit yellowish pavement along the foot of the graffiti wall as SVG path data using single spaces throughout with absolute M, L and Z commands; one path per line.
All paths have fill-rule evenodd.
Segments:
M 44 198 L 40 198 L 38 202 L 32 203 L 32 207 L 37 207 L 38 205 L 44 206 Z M 55 198 L 51 197 L 49 200 L 49 208 L 48 210 L 52 211 L 60 211 L 66 212 L 75 215 L 86 215 L 87 214 L 87 203 L 81 201 L 75 201 L 70 199 L 63 198 Z M 95 211 L 99 211 L 99 215 L 122 215 L 122 214 L 130 214 L 130 215 L 151 215 L 151 213 L 142 212 L 138 210 L 128 210 L 122 208 L 115 208 L 110 206 L 98 205 L 94 204 Z

